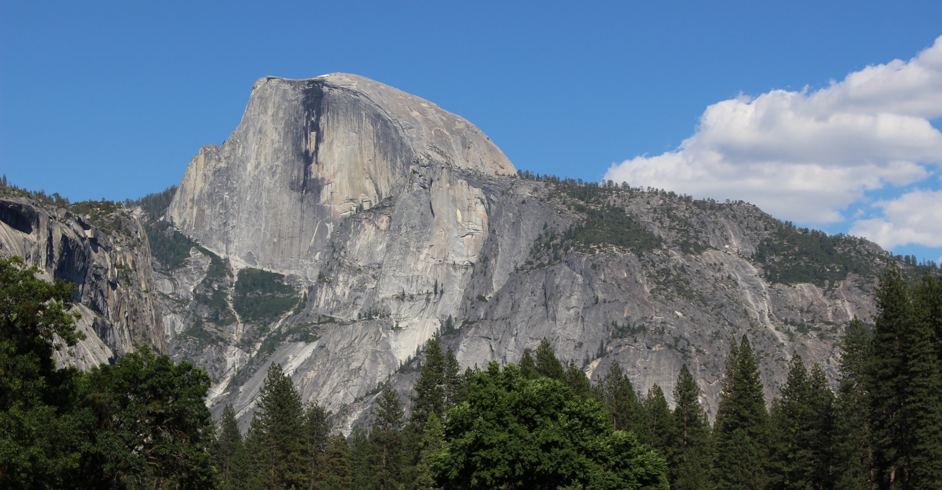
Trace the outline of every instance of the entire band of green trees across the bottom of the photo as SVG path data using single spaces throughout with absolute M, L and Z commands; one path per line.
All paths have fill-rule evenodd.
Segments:
M 517 365 L 461 372 L 429 340 L 409 415 L 390 384 L 368 430 L 345 437 L 272 365 L 243 435 L 219 426 L 206 374 L 149 349 L 87 372 L 73 285 L 0 260 L 0 486 L 235 489 L 933 489 L 942 487 L 942 279 L 892 263 L 872 331 L 854 319 L 832 391 L 793 355 L 766 403 L 746 336 L 726 359 L 714 423 L 685 365 L 674 409 L 613 361 L 591 382 L 548 340 Z

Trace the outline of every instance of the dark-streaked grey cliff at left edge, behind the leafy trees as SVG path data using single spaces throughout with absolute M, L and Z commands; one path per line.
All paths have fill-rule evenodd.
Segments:
M 108 233 L 88 216 L 29 198 L 0 198 L 0 254 L 23 257 L 47 279 L 78 286 L 76 326 L 87 339 L 59 356 L 61 364 L 88 368 L 145 343 L 167 350 L 144 229 L 122 205 L 107 206 L 114 209 L 96 218 Z

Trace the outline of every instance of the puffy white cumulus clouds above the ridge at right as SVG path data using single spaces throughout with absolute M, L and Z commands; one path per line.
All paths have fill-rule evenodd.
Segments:
M 930 119 L 940 116 L 942 37 L 909 61 L 869 66 L 819 90 L 772 90 L 710 105 L 677 150 L 614 164 L 605 179 L 744 199 L 799 223 L 838 223 L 866 191 L 937 172 L 942 133 Z M 906 199 L 881 201 L 884 217 L 876 219 L 883 221 L 860 221 L 854 229 L 884 246 L 910 236 L 918 237 L 905 238 L 912 243 L 942 244 L 938 227 L 906 234 L 909 225 L 894 212 L 894 203 L 904 206 Z M 876 239 L 877 229 L 896 238 Z

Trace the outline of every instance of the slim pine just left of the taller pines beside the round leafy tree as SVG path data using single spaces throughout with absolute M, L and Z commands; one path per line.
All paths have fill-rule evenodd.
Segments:
M 398 489 L 402 471 L 402 406 L 398 395 L 388 384 L 382 387 L 380 401 L 373 419 L 373 430 L 369 433 L 375 454 L 372 488 L 379 490 Z

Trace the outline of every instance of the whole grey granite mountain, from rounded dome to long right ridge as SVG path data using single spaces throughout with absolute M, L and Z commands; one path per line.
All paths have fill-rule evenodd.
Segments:
M 874 269 L 783 279 L 775 244 L 804 232 L 754 206 L 608 186 L 590 198 L 514 172 L 473 125 L 395 88 L 259 80 L 166 215 L 199 244 L 157 272 L 171 354 L 210 372 L 214 412 L 232 403 L 247 423 L 275 362 L 349 429 L 378 383 L 408 390 L 418 349 L 451 317 L 443 340 L 463 367 L 516 362 L 545 337 L 588 376 L 618 359 L 669 401 L 687 363 L 715 413 L 734 336 L 749 334 L 771 396 L 792 352 L 833 377 L 842 325 L 873 309 Z M 612 215 L 630 233 L 579 234 Z M 885 257 L 836 243 L 848 263 Z M 267 293 L 251 291 L 260 269 L 278 273 L 270 299 L 284 308 L 246 307 Z

